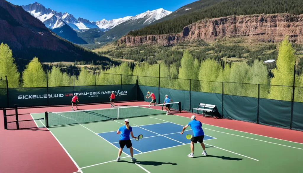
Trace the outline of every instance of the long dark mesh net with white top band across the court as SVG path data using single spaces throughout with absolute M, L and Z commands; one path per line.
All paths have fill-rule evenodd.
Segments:
M 92 123 L 132 117 L 166 114 L 165 106 L 169 105 L 171 113 L 181 113 L 181 102 L 167 104 L 140 105 L 140 106 L 116 106 L 113 108 L 75 110 L 65 112 L 45 112 L 46 127 Z M 163 111 L 162 111 L 163 107 Z

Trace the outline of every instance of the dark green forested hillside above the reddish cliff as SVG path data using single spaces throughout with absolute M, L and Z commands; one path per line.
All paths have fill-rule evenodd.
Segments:
M 204 3 L 208 5 L 203 5 Z M 223 0 L 218 1 L 198 1 L 196 6 L 201 4 L 201 8 L 190 9 L 190 13 L 186 12 L 184 15 L 172 18 L 173 14 L 166 17 L 163 22 L 154 25 L 146 26 L 145 28 L 130 31 L 128 35 L 159 35 L 179 33 L 182 29 L 198 20 L 205 18 L 225 17 L 229 15 L 252 15 L 252 14 L 275 14 L 275 13 L 289 13 L 289 14 L 303 14 L 303 3 L 301 0 Z M 179 9 L 180 10 L 180 9 Z M 177 10 L 178 11 L 178 10 Z

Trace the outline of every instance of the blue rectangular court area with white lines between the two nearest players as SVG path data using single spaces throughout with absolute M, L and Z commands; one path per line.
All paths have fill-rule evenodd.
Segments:
M 132 129 L 135 136 L 140 134 L 143 135 L 143 138 L 139 141 L 131 138 L 134 155 L 189 144 L 190 140 L 185 136 L 187 134 L 193 135 L 193 132 L 189 128 L 189 130 L 185 130 L 184 134 L 181 135 L 180 132 L 182 131 L 182 127 L 183 126 L 171 122 L 133 126 Z M 120 135 L 117 135 L 116 131 L 98 133 L 98 135 L 120 148 Z M 203 141 L 210 139 L 216 138 L 204 135 Z M 130 155 L 129 149 L 127 149 L 126 146 L 124 147 L 123 152 Z

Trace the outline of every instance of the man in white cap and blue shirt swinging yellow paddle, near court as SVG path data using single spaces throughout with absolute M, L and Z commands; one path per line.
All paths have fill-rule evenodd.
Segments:
M 204 138 L 204 131 L 202 129 L 202 123 L 198 120 L 196 120 L 196 116 L 192 115 L 191 116 L 191 121 L 188 123 L 188 125 L 185 125 L 181 131 L 181 135 L 184 133 L 185 129 L 190 126 L 191 130 L 194 132 L 194 136 L 191 138 L 191 143 L 190 143 L 190 147 L 191 147 L 191 153 L 189 155 L 187 155 L 188 157 L 194 157 L 194 149 L 195 149 L 195 145 L 194 143 L 197 143 L 198 141 L 200 142 L 202 148 L 203 148 L 203 152 L 202 155 L 206 155 L 207 153 L 205 151 L 205 145 L 203 143 L 203 138 Z

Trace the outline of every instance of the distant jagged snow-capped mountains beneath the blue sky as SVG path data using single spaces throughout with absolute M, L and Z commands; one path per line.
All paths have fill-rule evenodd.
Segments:
M 102 36 L 97 34 L 96 36 L 98 37 L 94 38 L 94 40 L 97 40 L 97 42 L 108 42 L 120 38 L 133 29 L 143 28 L 144 26 L 171 14 L 170 11 L 159 8 L 152 11 L 148 10 L 147 12 L 135 16 L 126 16 L 112 20 L 102 19 L 94 22 L 80 17 L 76 19 L 72 14 L 68 14 L 67 12 L 62 13 L 50 8 L 45 8 L 45 6 L 38 2 L 22 5 L 22 8 L 38 18 L 47 28 L 51 29 L 57 35 L 77 44 L 95 43 L 91 38 L 96 34 L 96 29 L 100 30 L 97 32 L 100 32 L 100 35 Z M 64 25 L 68 25 L 69 27 L 63 27 Z M 109 30 L 115 27 L 117 27 L 115 30 L 109 32 Z M 90 29 L 94 29 L 94 31 L 86 32 Z M 81 38 L 83 34 L 77 34 L 77 32 L 86 32 L 85 35 L 89 40 L 83 42 L 84 38 Z M 106 34 L 103 34 L 102 32 L 106 32 Z M 93 35 L 88 36 L 88 33 L 93 33 Z M 75 38 L 75 35 L 78 36 Z

